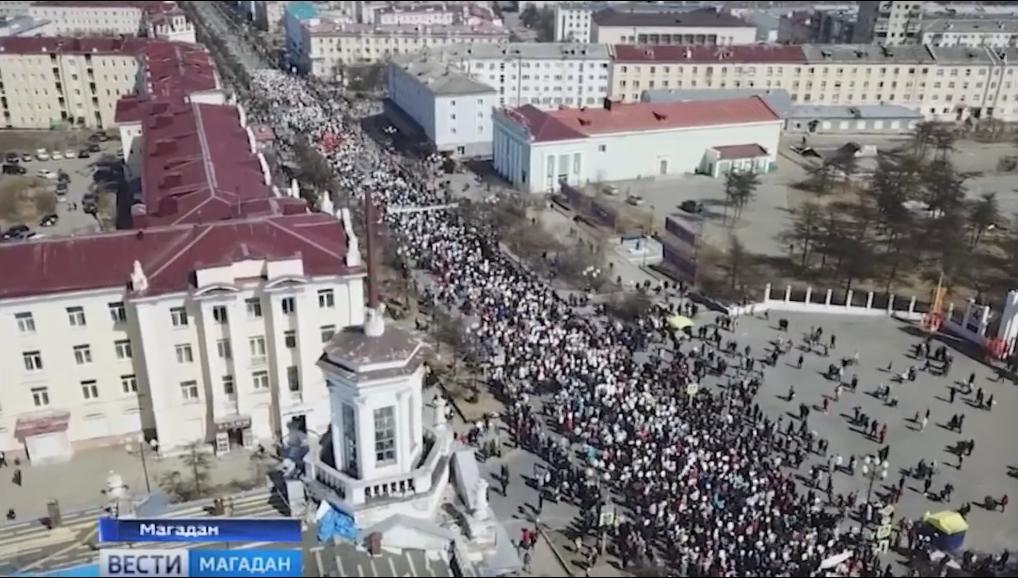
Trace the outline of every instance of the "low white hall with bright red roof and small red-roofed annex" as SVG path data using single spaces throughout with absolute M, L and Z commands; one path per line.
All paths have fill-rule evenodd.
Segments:
M 770 171 L 782 120 L 758 97 L 495 113 L 495 169 L 520 189 L 730 170 Z

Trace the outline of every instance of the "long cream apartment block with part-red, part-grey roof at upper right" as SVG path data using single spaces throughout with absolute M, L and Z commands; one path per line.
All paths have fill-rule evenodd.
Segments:
M 1016 54 L 874 45 L 617 46 L 611 96 L 636 102 L 653 89 L 783 89 L 796 104 L 887 104 L 932 120 L 1013 120 Z

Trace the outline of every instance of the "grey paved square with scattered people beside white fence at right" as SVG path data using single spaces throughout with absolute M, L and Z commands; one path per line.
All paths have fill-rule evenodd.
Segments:
M 701 322 L 713 321 L 713 313 L 701 313 L 699 317 Z M 788 334 L 778 331 L 780 319 L 789 321 Z M 898 504 L 896 519 L 901 515 L 914 519 L 924 512 L 957 509 L 965 502 L 971 502 L 966 548 L 1000 554 L 1003 548 L 1018 547 L 1018 514 L 1014 507 L 1009 508 L 1006 513 L 1001 513 L 1000 510 L 987 511 L 981 507 L 987 496 L 995 499 L 1000 499 L 1005 494 L 1009 499 L 1018 496 L 1018 478 L 1009 475 L 1013 471 L 1012 466 L 1018 465 L 1015 457 L 1018 420 L 1014 419 L 1012 413 L 1018 407 L 1018 386 L 1008 380 L 997 381 L 992 368 L 949 346 L 948 350 L 954 356 L 949 375 L 919 371 L 914 383 L 895 383 L 892 386 L 892 396 L 897 397 L 900 404 L 896 408 L 885 405 L 882 400 L 870 395 L 870 392 L 874 392 L 881 384 L 892 383 L 893 373 L 885 371 L 888 363 L 893 363 L 895 373 L 906 370 L 910 364 L 922 365 L 920 360 L 908 356 L 912 346 L 922 341 L 921 337 L 915 336 L 911 331 L 913 326 L 886 317 L 771 311 L 769 321 L 762 315 L 741 317 L 734 337 L 740 348 L 749 345 L 752 355 L 760 357 L 765 349 L 771 349 L 769 341 L 783 336 L 793 339 L 798 346 L 802 343 L 803 335 L 812 327 L 824 328 L 822 343 L 829 343 L 832 334 L 837 336 L 836 348 L 829 357 L 823 357 L 818 353 L 803 353 L 801 369 L 795 367 L 801 352 L 799 349 L 795 348 L 782 356 L 775 367 L 766 369 L 767 378 L 757 402 L 772 419 L 783 416 L 787 423 L 790 414 L 797 417 L 800 403 L 818 406 L 823 403 L 824 396 L 833 398 L 836 382 L 827 379 L 824 372 L 829 364 L 838 363 L 842 357 L 850 357 L 858 352 L 859 364 L 850 366 L 845 371 L 846 382 L 852 373 L 858 373 L 858 390 L 854 393 L 844 390 L 840 401 L 830 400 L 827 415 L 813 409 L 808 418 L 810 429 L 830 442 L 829 455 L 843 456 L 845 464 L 852 455 L 859 459 L 854 476 L 835 474 L 835 496 L 858 490 L 860 496 L 865 497 L 867 479 L 861 473 L 861 459 L 865 455 L 876 453 L 882 447 L 862 432 L 853 430 L 849 424 L 852 408 L 858 405 L 863 413 L 881 424 L 888 425 L 886 444 L 891 447 L 888 458 L 890 468 L 887 480 L 874 484 L 874 495 L 883 494 L 885 484 L 888 487 L 897 484 L 902 468 L 914 468 L 920 459 L 924 459 L 927 464 L 931 460 L 938 463 L 930 488 L 932 493 L 939 493 L 948 482 L 955 487 L 951 501 L 941 503 L 926 499 L 922 495 L 922 481 L 909 477 Z M 733 334 L 725 334 L 723 338 L 727 341 L 732 336 Z M 941 339 L 950 338 L 942 336 Z M 939 343 L 941 341 L 935 340 L 934 349 Z M 935 363 L 936 365 L 939 364 Z M 959 387 L 972 372 L 976 375 L 972 396 L 963 396 L 959 391 L 954 404 L 948 403 L 950 387 Z M 796 398 L 791 403 L 785 397 L 790 385 L 796 391 Z M 975 388 L 980 387 L 986 397 L 994 395 L 996 404 L 992 411 L 968 403 L 969 399 L 974 398 Z M 927 408 L 930 411 L 929 422 L 924 430 L 919 431 L 918 424 L 913 424 L 911 420 L 916 412 L 919 412 L 921 419 Z M 950 431 L 946 427 L 947 421 L 955 413 L 966 416 L 962 434 Z M 974 440 L 974 451 L 971 457 L 965 457 L 959 470 L 956 468 L 958 459 L 949 449 L 968 440 Z M 819 456 L 811 455 L 803 462 L 800 473 L 808 475 L 811 464 L 826 465 L 826 462 Z

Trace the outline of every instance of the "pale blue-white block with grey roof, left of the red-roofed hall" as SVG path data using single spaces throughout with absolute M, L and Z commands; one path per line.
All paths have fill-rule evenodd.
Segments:
M 491 155 L 492 111 L 499 105 L 495 89 L 427 56 L 412 55 L 389 64 L 387 85 L 387 115 L 397 124 L 399 112 L 408 116 L 436 151 L 457 157 Z M 399 111 L 391 110 L 392 105 Z

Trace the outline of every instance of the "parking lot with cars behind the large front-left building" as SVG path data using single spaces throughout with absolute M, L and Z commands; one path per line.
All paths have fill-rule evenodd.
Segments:
M 100 221 L 94 215 L 94 208 L 98 209 L 99 205 L 95 191 L 103 188 L 116 190 L 120 178 L 118 157 L 120 142 L 115 139 L 104 142 L 83 141 L 73 148 L 59 149 L 59 158 L 56 160 L 52 156 L 58 149 L 29 149 L 31 143 L 20 138 L 17 139 L 17 144 L 21 148 L 5 148 L 4 164 L 6 167 L 12 164 L 21 167 L 24 170 L 22 177 L 33 177 L 38 188 L 58 192 L 59 201 L 54 211 L 57 216 L 56 223 L 43 226 L 40 221 L 44 216 L 38 214 L 32 222 L 11 219 L 9 215 L 0 215 L 0 228 L 6 232 L 11 227 L 24 225 L 35 233 L 36 237 L 87 234 L 101 230 Z M 90 144 L 92 144 L 91 151 L 89 151 Z M 40 154 L 44 151 L 45 154 Z M 89 151 L 88 158 L 79 158 L 82 151 Z M 65 158 L 67 152 L 72 153 L 70 158 Z M 17 163 L 7 162 L 12 160 L 14 154 L 18 155 Z M 32 157 L 31 160 L 27 158 L 29 155 Z M 8 168 L 5 172 L 13 170 Z M 5 180 L 14 178 L 19 177 L 11 174 L 0 175 L 0 185 Z M 58 184 L 61 182 L 64 184 Z M 49 222 L 52 222 L 52 219 Z

